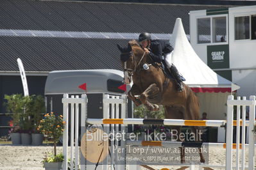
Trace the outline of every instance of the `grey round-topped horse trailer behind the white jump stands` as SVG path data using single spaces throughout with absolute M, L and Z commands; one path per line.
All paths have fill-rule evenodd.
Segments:
M 79 95 L 86 93 L 89 99 L 88 117 L 103 118 L 103 96 L 125 95 L 123 72 L 119 70 L 62 70 L 50 72 L 44 94 L 47 112 L 62 114 L 62 97 L 65 93 Z M 131 86 L 126 86 L 127 91 Z M 132 118 L 132 102 L 128 100 L 128 117 Z

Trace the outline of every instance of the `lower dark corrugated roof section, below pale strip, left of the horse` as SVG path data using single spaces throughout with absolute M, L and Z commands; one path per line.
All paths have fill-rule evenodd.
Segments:
M 107 69 L 121 70 L 116 43 L 127 40 L 92 38 L 0 37 L 0 69 L 19 70 L 21 58 L 26 71 Z

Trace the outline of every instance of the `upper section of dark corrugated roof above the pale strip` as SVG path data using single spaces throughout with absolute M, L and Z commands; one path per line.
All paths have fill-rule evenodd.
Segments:
M 176 18 L 189 33 L 189 11 L 223 8 L 184 4 L 129 4 L 2 0 L 0 29 L 170 33 Z

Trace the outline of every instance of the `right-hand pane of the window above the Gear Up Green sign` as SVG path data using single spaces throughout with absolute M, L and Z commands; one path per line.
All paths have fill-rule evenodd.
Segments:
M 212 18 L 212 42 L 226 42 L 226 17 Z

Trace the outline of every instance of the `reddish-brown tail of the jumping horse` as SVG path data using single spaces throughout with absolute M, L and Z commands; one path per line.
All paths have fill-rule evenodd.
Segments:
M 200 119 L 200 104 L 198 102 L 198 97 L 194 94 L 189 86 L 187 86 L 187 116 L 189 120 L 199 120 Z

